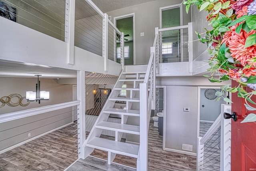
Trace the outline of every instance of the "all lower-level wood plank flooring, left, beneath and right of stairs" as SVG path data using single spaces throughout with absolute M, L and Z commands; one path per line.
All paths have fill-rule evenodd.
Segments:
M 76 126 L 69 125 L 38 139 L 30 141 L 24 145 L 16 147 L 6 153 L 0 154 L 0 171 L 37 171 L 37 170 L 64 170 L 74 161 L 76 161 Z M 73 127 L 74 126 L 74 127 Z M 73 137 L 74 136 L 74 137 Z M 113 138 L 103 136 L 104 138 Z M 74 142 L 75 141 L 75 142 Z M 122 139 L 122 141 L 125 141 Z M 95 149 L 91 154 L 95 157 L 107 159 L 107 152 Z M 96 167 L 97 159 L 87 158 L 86 160 L 94 161 L 88 166 L 85 161 L 79 160 L 79 168 L 81 170 L 101 170 Z M 88 162 L 88 161 L 87 161 Z M 105 162 L 105 161 L 104 161 Z M 116 155 L 115 163 L 128 165 L 136 168 L 137 159 L 123 155 Z M 83 167 L 85 166 L 87 167 Z M 105 164 L 104 164 L 105 165 Z M 91 168 L 91 169 L 88 169 Z M 105 167 L 104 167 L 105 168 Z M 102 170 L 104 170 L 104 168 Z M 106 169 L 107 168 L 107 169 Z M 113 170 L 112 167 L 106 167 L 105 170 Z M 113 168 L 120 170 L 127 169 L 117 165 Z M 122 169 L 121 169 L 122 168 Z M 148 170 L 149 171 L 195 171 L 196 157 L 174 153 L 162 150 L 162 136 L 158 133 L 158 128 L 153 127 L 150 123 L 148 137 Z

